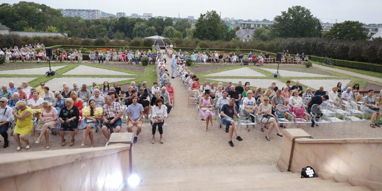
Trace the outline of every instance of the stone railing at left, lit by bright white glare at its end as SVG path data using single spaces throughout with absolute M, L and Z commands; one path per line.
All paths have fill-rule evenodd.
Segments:
M 130 144 L 115 144 L 2 154 L 0 190 L 122 190 L 130 151 Z

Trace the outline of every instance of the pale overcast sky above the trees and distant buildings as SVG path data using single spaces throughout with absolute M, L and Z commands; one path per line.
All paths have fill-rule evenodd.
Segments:
M 55 1 L 39 0 L 28 1 L 45 4 L 52 8 L 62 9 L 99 9 L 106 13 L 116 14 L 152 13 L 153 16 L 180 17 L 194 16 L 207 10 L 216 10 L 222 18 L 234 17 L 235 19 L 269 19 L 273 20 L 281 11 L 286 11 L 291 6 L 304 6 L 323 22 L 342 22 L 345 20 L 358 20 L 363 23 L 382 23 L 381 0 L 219 0 L 219 1 L 131 1 L 131 0 L 92 0 L 92 1 Z M 19 1 L 2 0 L 1 3 L 14 4 Z

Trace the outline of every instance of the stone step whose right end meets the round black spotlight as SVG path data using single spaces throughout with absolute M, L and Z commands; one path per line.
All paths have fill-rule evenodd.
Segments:
M 162 176 L 154 178 L 143 178 L 143 185 L 152 184 L 163 184 L 170 182 L 199 182 L 199 181 L 209 181 L 209 182 L 225 182 L 225 181 L 253 181 L 253 180 L 263 180 L 263 179 L 297 179 L 301 176 L 297 173 L 261 173 L 256 174 L 254 172 L 245 172 L 240 174 L 230 174 L 230 175 L 179 175 L 179 176 Z

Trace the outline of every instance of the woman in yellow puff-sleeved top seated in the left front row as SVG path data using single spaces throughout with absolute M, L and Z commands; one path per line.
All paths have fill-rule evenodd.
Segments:
M 102 119 L 103 110 L 102 107 L 97 107 L 94 99 L 89 101 L 89 106 L 84 107 L 83 115 L 85 119 L 81 122 L 81 125 L 78 129 L 85 129 L 84 138 L 81 143 L 81 147 L 85 146 L 86 138 L 89 135 L 90 142 L 92 147 L 94 147 L 94 139 L 93 139 L 93 128 L 96 128 L 99 124 L 99 120 Z

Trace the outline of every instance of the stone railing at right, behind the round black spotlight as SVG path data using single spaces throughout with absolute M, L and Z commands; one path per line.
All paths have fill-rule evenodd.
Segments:
M 311 166 L 323 179 L 382 189 L 382 139 L 315 140 L 302 129 L 286 129 L 278 160 L 281 170 Z

